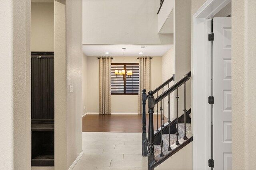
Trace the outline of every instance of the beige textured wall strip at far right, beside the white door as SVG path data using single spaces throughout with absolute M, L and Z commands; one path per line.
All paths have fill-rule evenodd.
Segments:
M 256 1 L 232 0 L 232 169 L 256 168 Z

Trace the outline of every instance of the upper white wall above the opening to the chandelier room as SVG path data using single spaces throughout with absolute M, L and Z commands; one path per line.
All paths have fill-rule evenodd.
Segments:
M 158 34 L 159 0 L 83 0 L 83 44 L 173 44 Z

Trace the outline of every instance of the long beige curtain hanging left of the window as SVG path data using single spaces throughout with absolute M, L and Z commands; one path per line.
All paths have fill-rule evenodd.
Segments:
M 100 58 L 100 115 L 111 114 L 111 91 L 110 91 L 110 69 L 111 69 L 110 57 Z

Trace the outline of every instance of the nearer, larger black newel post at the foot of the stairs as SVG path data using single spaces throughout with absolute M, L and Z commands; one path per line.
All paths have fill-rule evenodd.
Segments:
M 148 92 L 148 169 L 150 169 L 150 164 L 155 161 L 154 155 L 154 122 L 153 122 L 153 114 L 154 114 L 154 92 L 151 90 Z

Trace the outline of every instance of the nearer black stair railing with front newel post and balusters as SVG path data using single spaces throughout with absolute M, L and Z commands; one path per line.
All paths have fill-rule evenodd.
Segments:
M 170 94 L 176 90 L 176 143 L 175 145 L 180 145 L 179 143 L 179 133 L 178 133 L 178 99 L 180 98 L 178 96 L 178 88 L 184 84 L 184 100 L 186 101 L 186 82 L 190 79 L 191 72 L 188 72 L 180 81 L 176 82 L 172 87 L 168 88 L 165 92 L 163 92 L 160 96 L 158 96 L 156 99 L 154 98 L 154 91 L 148 92 L 148 114 L 149 114 L 149 120 L 148 120 L 148 169 L 153 170 L 155 162 L 155 155 L 154 155 L 154 107 L 160 102 L 160 114 L 161 118 L 164 116 L 164 113 L 162 113 L 162 101 L 165 97 L 168 96 L 168 125 L 169 125 L 169 140 L 168 140 L 168 151 L 171 152 L 171 144 L 170 144 Z M 184 140 L 187 140 L 186 137 L 186 102 L 184 102 Z M 161 125 L 160 125 L 160 157 L 164 156 L 166 152 L 163 152 L 163 143 L 162 143 L 162 119 L 161 119 Z M 168 153 L 167 153 L 168 154 Z

